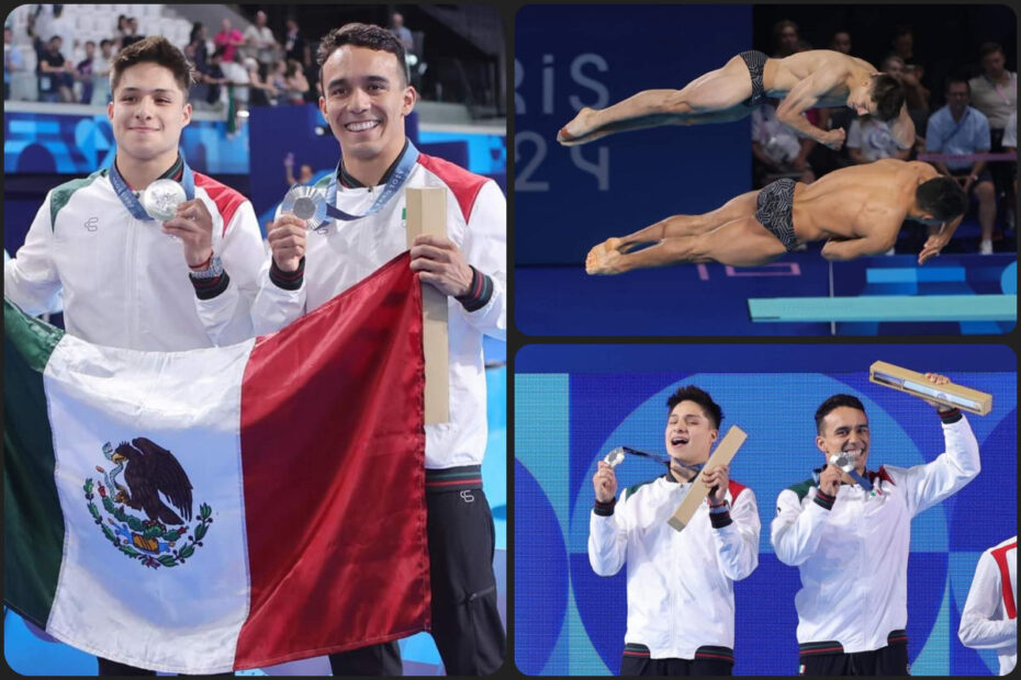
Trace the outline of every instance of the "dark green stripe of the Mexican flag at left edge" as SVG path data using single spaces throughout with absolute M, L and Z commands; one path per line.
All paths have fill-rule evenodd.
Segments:
M 43 371 L 64 331 L 3 301 L 3 593 L 45 627 L 64 551 Z

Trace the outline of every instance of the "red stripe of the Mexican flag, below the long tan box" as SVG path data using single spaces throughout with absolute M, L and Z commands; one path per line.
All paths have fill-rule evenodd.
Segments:
M 422 293 L 408 262 L 251 352 L 240 435 L 251 602 L 235 668 L 429 627 Z

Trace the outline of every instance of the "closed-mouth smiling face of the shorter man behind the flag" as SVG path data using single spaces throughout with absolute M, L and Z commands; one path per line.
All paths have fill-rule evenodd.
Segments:
M 173 162 L 181 128 L 191 121 L 191 104 L 173 71 L 152 61 L 130 66 L 121 73 L 106 105 L 117 143 L 117 156 L 135 161 Z

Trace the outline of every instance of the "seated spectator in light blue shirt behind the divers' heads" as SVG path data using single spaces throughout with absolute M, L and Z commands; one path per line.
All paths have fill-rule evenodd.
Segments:
M 989 121 L 968 105 L 970 89 L 967 79 L 952 76 L 946 80 L 946 105 L 932 114 L 925 131 L 925 150 L 930 154 L 984 154 L 989 150 Z M 942 174 L 953 177 L 965 193 L 974 191 L 978 199 L 978 224 L 981 241 L 978 251 L 992 252 L 992 227 L 996 223 L 996 190 L 992 174 L 984 160 L 933 161 Z M 930 233 L 932 227 L 930 227 Z

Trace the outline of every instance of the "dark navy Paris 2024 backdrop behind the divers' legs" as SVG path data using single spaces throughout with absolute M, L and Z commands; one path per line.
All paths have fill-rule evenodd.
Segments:
M 556 141 L 581 106 L 681 88 L 752 42 L 750 5 L 525 7 L 515 23 L 515 263 L 581 264 L 595 243 L 751 189 L 749 118 Z

